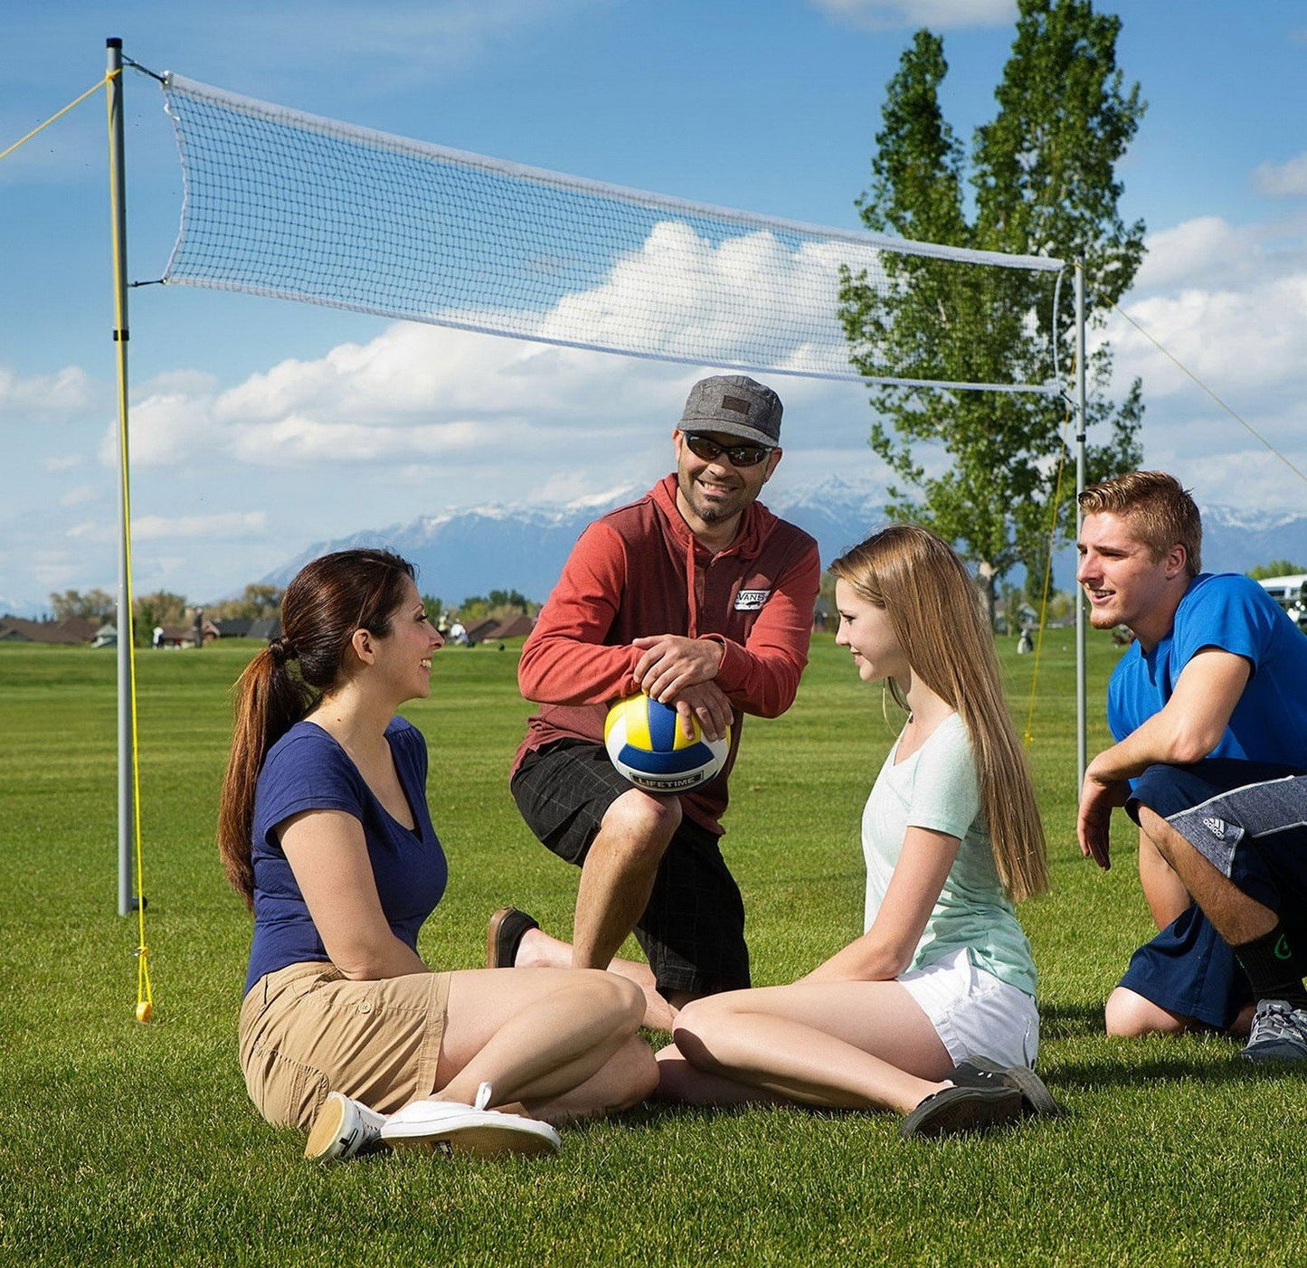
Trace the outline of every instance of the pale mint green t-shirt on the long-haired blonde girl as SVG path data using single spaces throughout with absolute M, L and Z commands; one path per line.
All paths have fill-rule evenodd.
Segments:
M 863 810 L 864 928 L 872 927 L 880 911 L 910 826 L 957 837 L 957 859 L 908 967 L 923 969 L 966 948 L 978 969 L 1033 996 L 1035 963 L 1030 943 L 993 865 L 975 759 L 962 719 L 950 714 L 902 762 L 895 762 L 898 746 L 895 740 Z

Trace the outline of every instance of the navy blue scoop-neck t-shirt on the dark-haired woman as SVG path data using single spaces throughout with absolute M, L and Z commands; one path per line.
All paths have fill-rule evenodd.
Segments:
M 303 961 L 329 961 L 277 826 L 302 810 L 344 810 L 363 825 L 382 911 L 395 936 L 417 950 L 417 931 L 444 893 L 448 869 L 426 805 L 426 744 L 403 718 L 386 739 L 414 829 L 376 800 L 349 754 L 312 722 L 297 722 L 269 750 L 254 803 L 254 945 L 246 991 L 264 974 Z

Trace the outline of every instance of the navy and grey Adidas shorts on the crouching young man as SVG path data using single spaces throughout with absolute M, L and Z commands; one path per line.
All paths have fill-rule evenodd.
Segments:
M 1127 812 L 1161 814 L 1246 894 L 1278 912 L 1307 975 L 1307 774 L 1286 766 L 1210 758 L 1150 766 Z M 1121 986 L 1161 1008 L 1226 1029 L 1252 988 L 1225 939 L 1191 905 L 1131 957 Z

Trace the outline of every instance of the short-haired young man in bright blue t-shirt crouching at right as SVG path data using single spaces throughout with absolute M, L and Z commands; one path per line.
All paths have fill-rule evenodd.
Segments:
M 1080 495 L 1090 624 L 1134 642 L 1107 688 L 1116 739 L 1085 773 L 1081 851 L 1140 826 L 1158 935 L 1107 1001 L 1116 1035 L 1213 1027 L 1249 1060 L 1307 1060 L 1307 639 L 1255 580 L 1202 573 L 1202 522 L 1172 476 Z

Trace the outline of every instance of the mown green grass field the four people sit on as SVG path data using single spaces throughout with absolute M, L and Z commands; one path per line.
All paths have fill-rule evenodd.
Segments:
M 1031 748 L 1053 893 L 1021 909 L 1040 970 L 1040 1068 L 1067 1109 L 989 1139 L 902 1143 L 893 1115 L 643 1107 L 572 1128 L 559 1158 L 306 1163 L 246 1098 L 235 1025 L 248 918 L 213 825 L 229 692 L 251 647 L 139 658 L 156 1020 L 136 920 L 116 915 L 112 652 L 0 646 L 3 1264 L 1293 1264 L 1307 1258 L 1307 1085 L 1221 1038 L 1121 1043 L 1102 1001 L 1148 932 L 1134 850 L 1074 843 L 1072 637 L 1039 671 Z M 1000 643 L 1023 728 L 1034 658 Z M 1091 715 L 1116 651 L 1090 646 Z M 507 791 L 527 706 L 512 650 L 448 648 L 408 715 L 450 855 L 422 953 L 480 966 L 512 902 L 566 932 L 575 872 Z M 893 718 L 893 706 L 891 706 Z M 725 851 L 754 979 L 860 928 L 857 821 L 894 733 L 830 635 L 797 703 L 752 720 Z M 1090 750 L 1106 741 L 1100 722 Z

